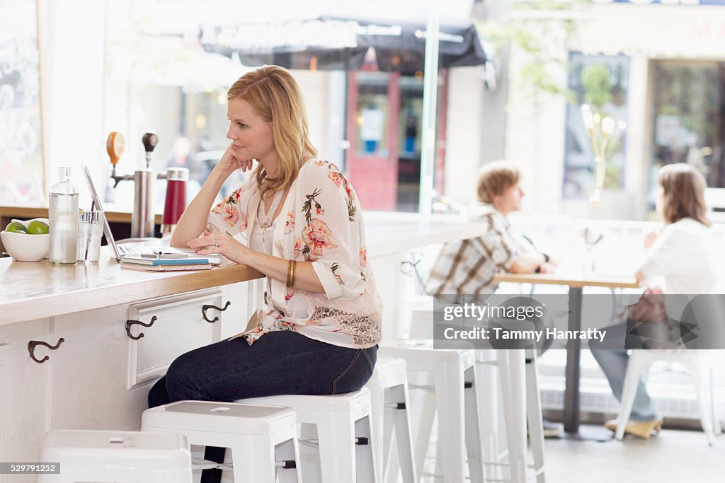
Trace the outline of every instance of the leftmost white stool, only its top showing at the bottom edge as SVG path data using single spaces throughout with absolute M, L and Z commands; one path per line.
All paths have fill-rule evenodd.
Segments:
M 191 483 L 191 453 L 181 434 L 58 430 L 46 433 L 40 461 L 59 462 L 59 474 L 38 483 Z

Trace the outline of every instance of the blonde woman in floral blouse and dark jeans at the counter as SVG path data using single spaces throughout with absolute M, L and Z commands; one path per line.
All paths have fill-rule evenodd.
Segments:
M 334 164 L 315 157 L 289 72 L 248 72 L 227 99 L 231 145 L 171 245 L 259 270 L 267 276 L 267 307 L 252 316 L 254 328 L 173 361 L 149 406 L 358 390 L 375 366 L 382 303 L 355 190 Z M 249 181 L 212 209 L 229 175 L 252 169 L 254 160 Z M 212 481 L 207 471 L 204 481 Z

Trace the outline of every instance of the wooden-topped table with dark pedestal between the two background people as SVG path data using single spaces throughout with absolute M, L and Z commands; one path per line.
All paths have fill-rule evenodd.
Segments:
M 568 287 L 568 330 L 581 329 L 581 309 L 584 287 L 638 288 L 634 276 L 611 276 L 584 272 L 563 273 L 498 273 L 494 282 L 527 283 L 536 285 L 566 285 Z M 566 385 L 564 389 L 563 422 L 568 434 L 579 433 L 579 356 L 581 340 L 566 343 Z

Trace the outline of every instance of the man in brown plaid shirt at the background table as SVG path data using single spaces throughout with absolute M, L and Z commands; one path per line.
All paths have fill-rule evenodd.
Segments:
M 510 161 L 492 161 L 481 169 L 479 201 L 469 209 L 471 222 L 486 225 L 478 238 L 446 243 L 431 270 L 431 295 L 486 295 L 496 290 L 497 272 L 553 272 L 555 263 L 516 234 L 508 214 L 521 209 L 521 172 Z

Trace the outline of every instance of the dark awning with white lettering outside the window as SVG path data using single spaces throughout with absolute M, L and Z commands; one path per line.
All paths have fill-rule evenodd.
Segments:
M 277 64 L 291 69 L 358 70 L 374 49 L 378 69 L 423 70 L 424 20 L 371 20 L 321 15 L 314 19 L 237 25 L 203 25 L 199 33 L 207 52 L 239 55 L 242 64 Z M 439 67 L 489 64 L 490 44 L 471 22 L 442 20 Z

